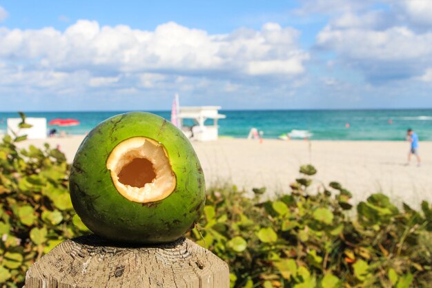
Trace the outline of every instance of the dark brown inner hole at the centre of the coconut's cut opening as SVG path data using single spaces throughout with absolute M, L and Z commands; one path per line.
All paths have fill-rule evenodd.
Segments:
M 141 188 L 153 182 L 156 173 L 148 159 L 135 158 L 121 169 L 118 177 L 122 184 Z

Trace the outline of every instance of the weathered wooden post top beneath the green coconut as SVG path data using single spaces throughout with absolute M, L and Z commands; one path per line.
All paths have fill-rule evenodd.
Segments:
M 228 265 L 181 238 L 151 247 L 121 247 L 98 236 L 66 240 L 35 262 L 26 288 L 228 288 Z

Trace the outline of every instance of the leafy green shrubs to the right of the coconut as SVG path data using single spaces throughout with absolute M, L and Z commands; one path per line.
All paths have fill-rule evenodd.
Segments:
M 228 262 L 231 287 L 428 287 L 431 205 L 400 210 L 373 194 L 350 218 L 352 195 L 340 183 L 309 193 L 316 172 L 302 166 L 291 193 L 273 201 L 260 200 L 264 189 L 252 199 L 210 189 L 189 237 Z

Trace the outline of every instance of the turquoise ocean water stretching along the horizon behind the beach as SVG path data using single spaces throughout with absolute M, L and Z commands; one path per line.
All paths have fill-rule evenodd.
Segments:
M 170 119 L 170 111 L 150 111 Z M 28 117 L 73 118 L 79 126 L 61 127 L 69 134 L 88 133 L 99 122 L 124 111 L 109 112 L 34 112 Z M 252 127 L 264 131 L 265 138 L 276 138 L 293 129 L 308 130 L 314 140 L 392 140 L 402 141 L 407 128 L 420 140 L 432 141 L 432 109 L 421 110 L 342 110 L 342 111 L 220 111 L 219 135 L 246 137 Z M 0 113 L 0 133 L 6 131 L 6 118 L 17 113 Z M 389 124 L 391 119 L 391 124 Z M 346 123 L 350 128 L 346 128 Z M 186 124 L 192 124 L 187 123 Z M 50 126 L 48 129 L 51 128 Z M 52 128 L 55 128 L 54 126 Z

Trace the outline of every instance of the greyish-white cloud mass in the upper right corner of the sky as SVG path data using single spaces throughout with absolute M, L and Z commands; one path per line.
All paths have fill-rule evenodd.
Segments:
M 432 66 L 432 32 L 407 19 L 413 13 L 405 6 L 402 9 L 407 2 L 397 0 L 389 10 L 339 15 L 317 34 L 316 45 L 335 52 L 333 64 L 360 69 L 371 83 L 419 79 Z M 418 1 L 412 2 L 409 5 Z

